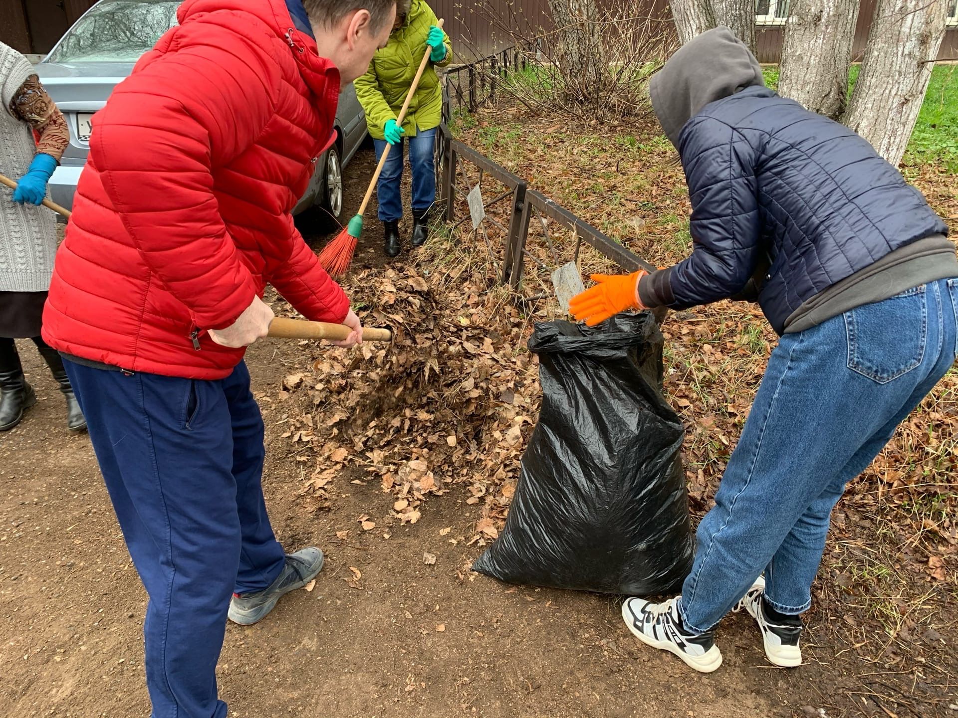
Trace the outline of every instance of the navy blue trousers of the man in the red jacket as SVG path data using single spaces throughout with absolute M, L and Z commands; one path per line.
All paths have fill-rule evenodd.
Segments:
M 63 364 L 149 596 L 152 718 L 225 718 L 216 667 L 230 596 L 268 587 L 284 565 L 249 371 L 200 381 Z

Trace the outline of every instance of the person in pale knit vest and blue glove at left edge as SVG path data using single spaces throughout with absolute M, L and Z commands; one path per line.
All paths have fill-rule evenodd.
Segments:
M 14 339 L 32 339 L 66 395 L 67 426 L 86 428 L 63 361 L 40 336 L 57 252 L 54 215 L 40 203 L 69 142 L 66 120 L 26 57 L 0 42 L 0 173 L 17 180 L 0 199 L 0 431 L 36 403 Z M 34 143 L 34 131 L 39 142 Z

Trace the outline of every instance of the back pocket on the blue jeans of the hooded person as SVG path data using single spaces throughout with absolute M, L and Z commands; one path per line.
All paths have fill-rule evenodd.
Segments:
M 928 337 L 925 286 L 845 312 L 848 368 L 887 384 L 917 368 Z

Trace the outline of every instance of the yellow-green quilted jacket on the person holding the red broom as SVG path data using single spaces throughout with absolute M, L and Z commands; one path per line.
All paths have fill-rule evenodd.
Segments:
M 427 52 L 425 38 L 429 27 L 439 20 L 424 0 L 413 0 L 405 22 L 389 35 L 389 42 L 382 50 L 376 50 L 369 70 L 356 79 L 356 97 L 366 111 L 369 133 L 382 140 L 382 129 L 389 120 L 396 120 L 406 93 L 416 77 L 422 56 Z M 445 36 L 445 57 L 436 63 L 443 67 L 452 61 L 449 36 Z M 443 90 L 439 76 L 432 63 L 422 73 L 419 87 L 409 103 L 409 110 L 402 123 L 406 137 L 416 135 L 417 128 L 432 129 L 439 126 L 443 117 Z

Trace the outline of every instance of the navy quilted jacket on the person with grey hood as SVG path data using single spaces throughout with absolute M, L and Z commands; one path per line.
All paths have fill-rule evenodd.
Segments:
M 922 193 L 868 142 L 765 87 L 705 105 L 677 140 L 695 246 L 650 278 L 667 306 L 737 295 L 768 262 L 758 299 L 781 333 L 792 312 L 835 282 L 947 234 Z

